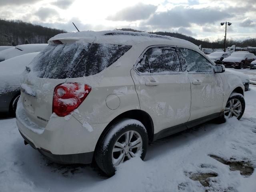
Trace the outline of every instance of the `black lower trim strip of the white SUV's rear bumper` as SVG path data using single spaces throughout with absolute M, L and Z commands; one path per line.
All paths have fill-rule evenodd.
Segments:
M 90 164 L 92 162 L 94 152 L 78 153 L 78 154 L 67 154 L 67 155 L 56 155 L 50 151 L 46 151 L 43 148 L 36 148 L 36 146 L 28 140 L 21 132 L 21 136 L 24 138 L 27 144 L 30 144 L 32 148 L 38 150 L 42 155 L 48 157 L 50 160 L 60 164 Z

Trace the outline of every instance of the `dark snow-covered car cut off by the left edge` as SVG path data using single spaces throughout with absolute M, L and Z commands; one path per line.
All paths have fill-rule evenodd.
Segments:
M 0 112 L 15 116 L 20 97 L 20 76 L 32 59 L 38 54 L 28 53 L 1 62 L 0 70 Z

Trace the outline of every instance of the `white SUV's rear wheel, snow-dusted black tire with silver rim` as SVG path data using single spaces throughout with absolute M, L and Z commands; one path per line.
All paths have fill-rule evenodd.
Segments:
M 131 135 L 132 137 L 130 137 Z M 136 142 L 138 144 L 132 146 L 132 143 Z M 136 148 L 136 146 L 139 147 Z M 147 147 L 148 134 L 143 124 L 138 120 L 125 118 L 113 124 L 108 132 L 100 138 L 94 158 L 98 167 L 107 176 L 113 176 L 116 166 L 130 159 L 134 154 L 138 155 L 141 152 L 140 158 L 143 160 Z

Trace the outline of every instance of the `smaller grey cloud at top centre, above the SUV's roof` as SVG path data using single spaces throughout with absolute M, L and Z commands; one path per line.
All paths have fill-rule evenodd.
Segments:
M 138 3 L 134 6 L 124 8 L 116 14 L 108 16 L 107 20 L 112 21 L 136 21 L 148 19 L 156 11 L 157 6 Z

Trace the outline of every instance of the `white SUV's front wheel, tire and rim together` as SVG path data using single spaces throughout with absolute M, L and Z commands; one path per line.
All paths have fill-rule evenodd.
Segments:
M 231 118 L 236 116 L 238 120 L 243 116 L 245 110 L 245 101 L 244 96 L 242 94 L 233 92 L 228 98 L 228 102 L 226 104 L 224 110 L 225 118 Z

